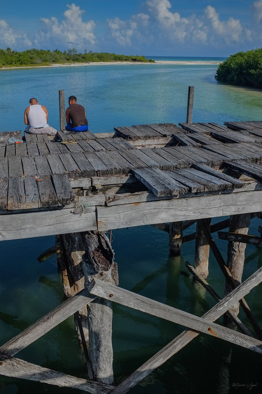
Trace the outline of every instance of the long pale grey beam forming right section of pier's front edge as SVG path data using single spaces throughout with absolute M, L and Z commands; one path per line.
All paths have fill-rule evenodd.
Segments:
M 240 189 L 242 190 L 242 189 Z M 252 201 L 252 204 L 250 204 Z M 124 206 L 97 207 L 98 230 L 228 216 L 262 210 L 262 191 L 183 197 Z

